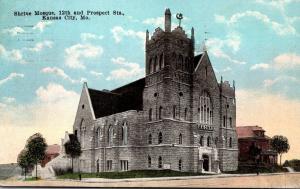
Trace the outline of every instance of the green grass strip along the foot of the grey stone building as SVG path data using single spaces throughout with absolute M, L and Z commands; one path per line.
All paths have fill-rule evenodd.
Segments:
M 101 173 L 81 173 L 81 178 L 150 178 L 150 177 L 176 177 L 176 176 L 197 176 L 201 173 L 179 172 L 172 170 L 133 170 L 124 172 L 101 172 Z M 66 173 L 57 176 L 59 179 L 79 179 L 79 173 Z

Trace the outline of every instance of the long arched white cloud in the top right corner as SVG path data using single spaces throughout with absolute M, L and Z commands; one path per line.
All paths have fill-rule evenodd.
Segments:
M 258 11 L 245 11 L 241 13 L 233 14 L 229 19 L 226 20 L 224 16 L 215 15 L 215 21 L 218 23 L 225 23 L 228 26 L 234 25 L 240 21 L 240 19 L 244 17 L 252 17 L 256 20 L 259 20 L 266 24 L 267 26 L 271 27 L 272 30 L 275 31 L 278 35 L 294 35 L 296 34 L 296 29 L 289 23 L 280 24 L 271 20 L 267 15 L 262 14 Z

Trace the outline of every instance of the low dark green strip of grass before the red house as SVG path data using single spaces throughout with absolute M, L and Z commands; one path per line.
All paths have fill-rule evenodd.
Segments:
M 238 170 L 236 171 L 228 171 L 225 173 L 229 174 L 247 174 L 247 173 L 256 173 L 257 168 L 255 166 L 243 166 L 243 167 L 238 167 Z M 282 166 L 275 165 L 273 167 L 258 167 L 258 172 L 259 173 L 279 173 L 279 172 L 287 172 L 285 168 Z

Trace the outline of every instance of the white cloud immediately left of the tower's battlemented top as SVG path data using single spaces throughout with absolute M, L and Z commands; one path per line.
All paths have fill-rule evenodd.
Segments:
M 121 26 L 115 26 L 113 29 L 111 29 L 111 32 L 113 34 L 113 38 L 115 39 L 116 43 L 120 43 L 123 39 L 123 37 L 133 37 L 133 38 L 138 38 L 141 40 L 145 40 L 145 32 L 141 31 L 134 31 L 134 30 L 125 30 Z

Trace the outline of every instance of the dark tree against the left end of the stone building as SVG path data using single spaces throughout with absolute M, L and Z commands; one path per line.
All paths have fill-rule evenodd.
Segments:
M 82 153 L 81 151 L 81 145 L 78 141 L 77 137 L 73 134 L 69 135 L 70 140 L 65 143 L 65 151 L 66 154 L 71 157 L 72 160 L 72 172 L 73 170 L 73 159 L 76 157 L 79 157 Z

